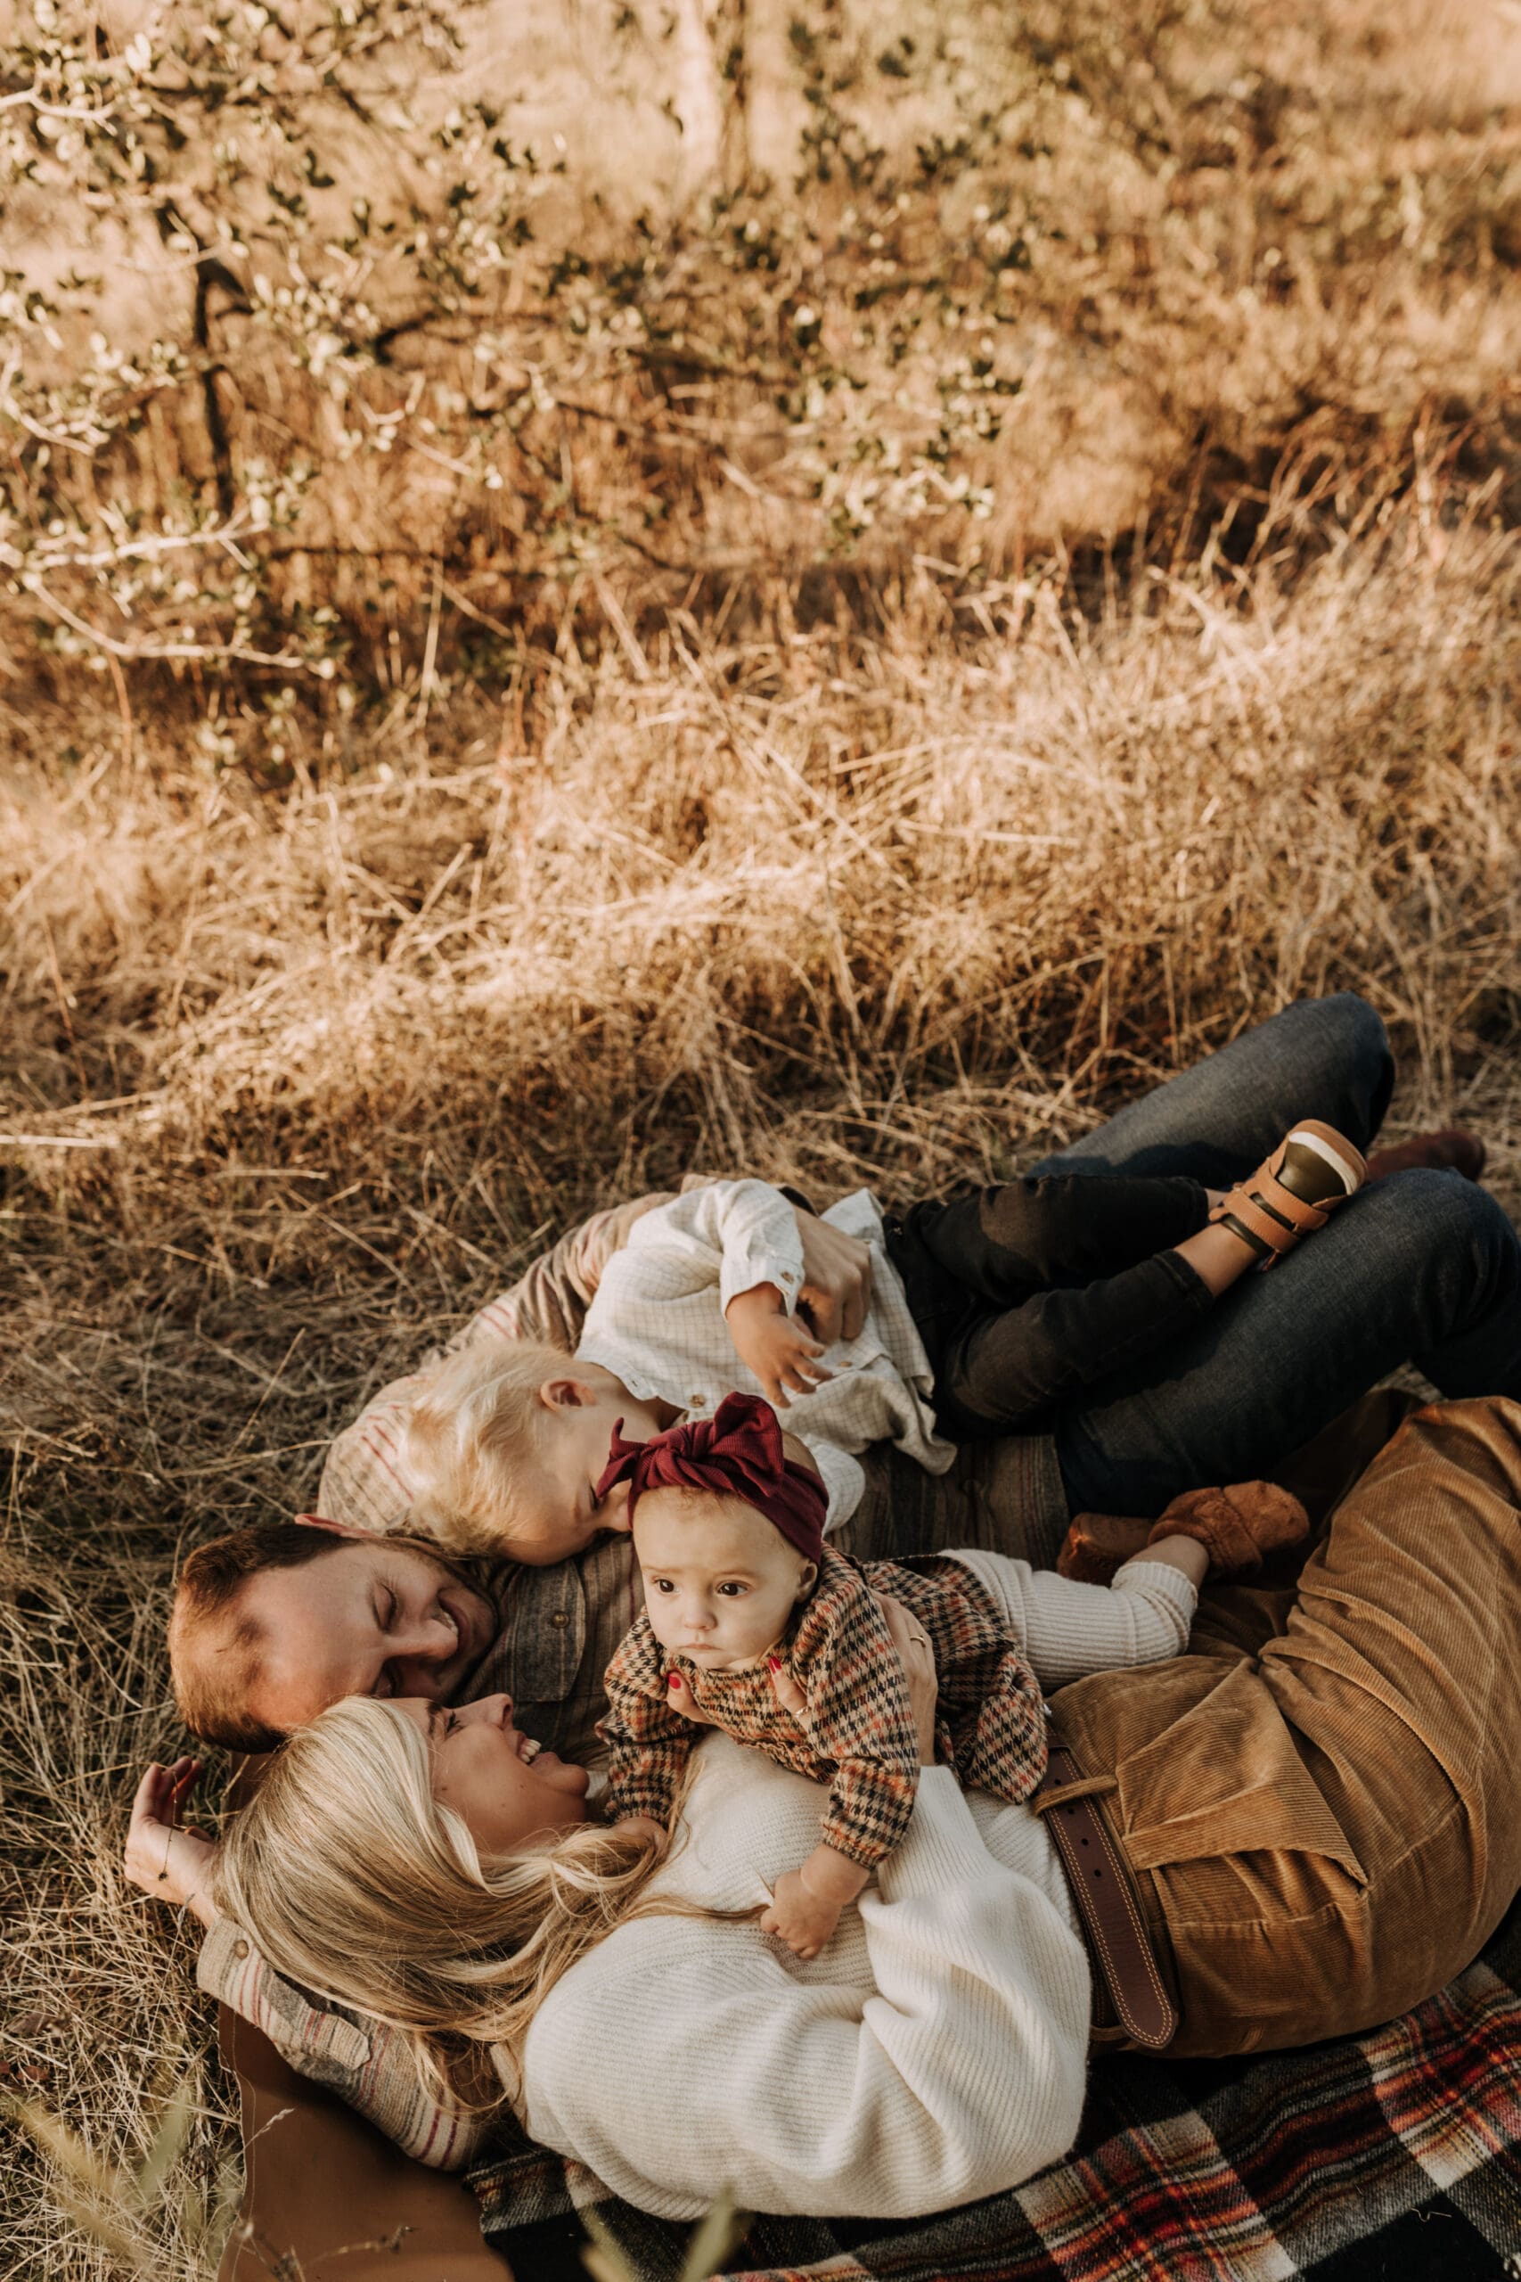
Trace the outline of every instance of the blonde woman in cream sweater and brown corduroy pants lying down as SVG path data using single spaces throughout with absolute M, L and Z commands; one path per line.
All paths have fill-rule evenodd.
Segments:
M 182 1851 L 173 1771 L 151 1769 L 128 1867 L 228 1915 L 283 1992 L 285 2049 L 326 2054 L 328 2081 L 340 2038 L 299 1985 L 399 2031 L 356 2040 L 344 2088 L 433 2161 L 479 2136 L 438 2097 L 474 2052 L 534 2138 L 661 2216 L 721 2186 L 759 2211 L 924 2214 L 1063 2154 L 1090 2033 L 1177 2056 L 1316 2042 L 1459 1972 L 1521 1885 L 1519 1638 L 1521 1406 L 1434 1403 L 1293 1593 L 1206 1591 L 1190 1654 L 1056 1691 L 1056 1789 L 962 1796 L 926 1764 L 903 1846 L 812 1963 L 757 1917 L 821 1787 L 711 1734 L 657 1864 L 588 1826 L 586 1778 L 504 1698 L 324 1712 L 221 1860 Z M 930 1657 L 910 1632 L 898 1650 L 928 1757 Z M 1095 1963 L 1067 1867 L 1083 1826 L 1152 2010 Z

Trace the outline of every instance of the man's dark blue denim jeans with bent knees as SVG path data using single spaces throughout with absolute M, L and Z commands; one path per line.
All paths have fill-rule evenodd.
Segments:
M 1047 1157 L 1038 1173 L 1252 1173 L 1295 1118 L 1368 1150 L 1393 1089 L 1366 1000 L 1302 1000 Z M 1272 1476 L 1366 1387 L 1414 1362 L 1443 1394 L 1521 1394 L 1521 1244 L 1459 1173 L 1393 1173 L 1270 1276 L 1085 1387 L 1054 1424 L 1074 1513 L 1161 1513 L 1179 1490 Z

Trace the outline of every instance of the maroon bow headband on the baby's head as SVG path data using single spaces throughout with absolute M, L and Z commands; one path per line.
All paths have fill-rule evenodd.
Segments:
M 805 1561 L 823 1554 L 823 1483 L 807 1467 L 791 1465 L 778 1415 L 759 1394 L 725 1394 L 711 1419 L 668 1426 L 648 1442 L 625 1442 L 618 1419 L 597 1497 L 607 1497 L 618 1481 L 629 1486 L 629 1522 L 645 1490 L 711 1490 L 743 1497 Z

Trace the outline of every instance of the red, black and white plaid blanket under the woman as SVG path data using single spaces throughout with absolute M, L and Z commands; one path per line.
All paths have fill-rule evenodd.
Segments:
M 543 2150 L 483 2163 L 472 2186 L 520 2282 L 586 2282 L 577 2200 L 641 2282 L 677 2282 L 689 2227 L 595 2200 Z M 1466 1974 L 1386 2029 L 1256 2061 L 1097 2061 L 1076 2147 L 1012 2193 L 896 2225 L 757 2218 L 730 2259 L 730 2282 L 825 2275 L 1521 2277 L 1521 1905 Z

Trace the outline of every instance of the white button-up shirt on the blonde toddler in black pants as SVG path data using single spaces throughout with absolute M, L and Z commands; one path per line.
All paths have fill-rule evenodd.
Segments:
M 823 1214 L 830 1228 L 871 1248 L 871 1308 L 855 1340 L 821 1358 L 835 1376 L 794 1394 L 780 1413 L 823 1476 L 835 1527 L 855 1513 L 864 1476 L 851 1451 L 892 1440 L 944 1474 L 955 1449 L 935 1433 L 930 1358 L 908 1312 L 903 1280 L 882 1244 L 882 1214 L 867 1189 Z M 803 1241 L 794 1209 L 764 1180 L 718 1180 L 691 1189 L 634 1223 L 607 1262 L 577 1349 L 641 1401 L 711 1417 L 725 1394 L 762 1394 L 739 1360 L 723 1310 L 739 1292 L 775 1285 L 787 1314 L 803 1289 Z

